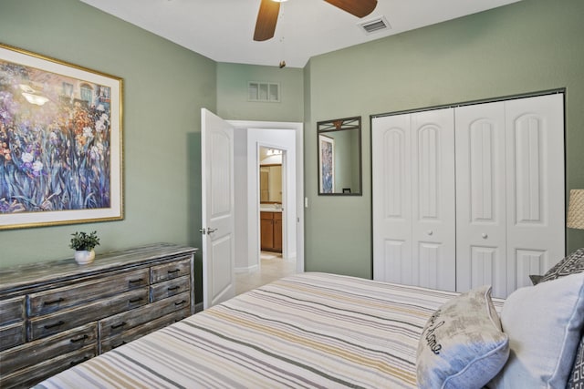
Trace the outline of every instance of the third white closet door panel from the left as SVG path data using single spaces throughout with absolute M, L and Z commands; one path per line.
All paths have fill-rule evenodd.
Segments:
M 456 290 L 506 297 L 505 103 L 455 108 Z

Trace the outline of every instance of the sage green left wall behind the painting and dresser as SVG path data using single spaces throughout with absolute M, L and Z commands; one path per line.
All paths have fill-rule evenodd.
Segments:
M 2 0 L 0 41 L 123 78 L 125 203 L 120 221 L 0 231 L 1 266 L 72 258 L 76 230 L 97 230 L 98 251 L 200 247 L 200 107 L 216 108 L 215 62 L 77 0 Z

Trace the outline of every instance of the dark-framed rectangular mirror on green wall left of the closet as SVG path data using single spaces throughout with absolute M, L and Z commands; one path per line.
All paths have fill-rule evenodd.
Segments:
M 318 195 L 361 195 L 361 118 L 319 121 Z

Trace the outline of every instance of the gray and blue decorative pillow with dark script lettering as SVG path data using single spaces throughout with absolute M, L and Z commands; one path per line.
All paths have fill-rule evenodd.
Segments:
M 508 356 L 491 287 L 483 286 L 445 302 L 426 322 L 418 343 L 418 386 L 481 388 Z

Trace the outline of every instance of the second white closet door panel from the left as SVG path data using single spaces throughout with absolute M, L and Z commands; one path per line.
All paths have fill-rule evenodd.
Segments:
M 413 283 L 454 291 L 454 108 L 412 114 Z

